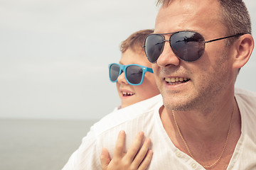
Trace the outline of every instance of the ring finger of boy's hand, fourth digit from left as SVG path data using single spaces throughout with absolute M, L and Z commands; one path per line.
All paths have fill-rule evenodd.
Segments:
M 132 162 L 134 166 L 136 165 L 138 167 L 139 164 L 142 163 L 143 159 L 147 156 L 150 145 L 151 145 L 151 140 L 149 138 L 146 138 L 141 149 L 139 149 L 139 152 L 137 153 L 137 155 L 134 158 L 134 161 Z

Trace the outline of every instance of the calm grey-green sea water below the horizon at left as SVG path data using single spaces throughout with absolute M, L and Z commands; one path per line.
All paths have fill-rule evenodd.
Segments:
M 0 169 L 62 169 L 96 121 L 0 119 Z

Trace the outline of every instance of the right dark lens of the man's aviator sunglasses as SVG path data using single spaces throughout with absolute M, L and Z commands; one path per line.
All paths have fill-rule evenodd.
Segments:
M 199 33 L 183 31 L 171 35 L 171 49 L 186 62 L 195 62 L 204 52 L 204 39 Z

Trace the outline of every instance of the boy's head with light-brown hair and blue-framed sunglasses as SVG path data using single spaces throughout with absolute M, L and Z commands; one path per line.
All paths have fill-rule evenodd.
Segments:
M 153 30 L 139 30 L 124 40 L 120 46 L 122 56 L 119 61 L 119 64 L 124 66 L 139 64 L 151 72 L 143 72 L 143 68 L 137 65 L 129 65 L 125 70 L 121 70 L 122 65 L 110 64 L 110 80 L 117 82 L 117 92 L 121 100 L 119 108 L 130 106 L 159 94 L 151 70 L 151 63 L 147 60 L 142 47 L 146 36 L 151 33 Z

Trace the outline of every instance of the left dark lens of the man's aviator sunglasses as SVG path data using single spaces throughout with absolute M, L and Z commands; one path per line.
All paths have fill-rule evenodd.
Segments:
M 164 38 L 161 35 L 149 35 L 145 40 L 145 53 L 149 62 L 156 62 L 164 47 Z

